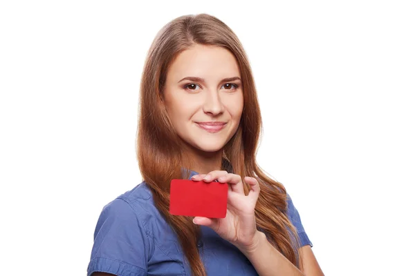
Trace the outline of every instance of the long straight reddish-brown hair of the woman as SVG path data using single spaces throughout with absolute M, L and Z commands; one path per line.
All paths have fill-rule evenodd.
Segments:
M 199 256 L 196 241 L 200 226 L 192 217 L 169 214 L 169 184 L 171 179 L 187 179 L 192 160 L 185 156 L 183 141 L 176 134 L 163 103 L 163 88 L 167 70 L 179 53 L 195 43 L 223 47 L 233 53 L 239 64 L 244 106 L 237 132 L 223 148 L 223 159 L 233 173 L 256 177 L 261 192 L 255 215 L 257 228 L 268 240 L 299 267 L 299 239 L 287 217 L 284 186 L 266 176 L 255 159 L 262 130 L 261 112 L 255 82 L 248 57 L 236 34 L 221 20 L 209 14 L 190 14 L 167 23 L 157 33 L 142 71 L 136 153 L 144 181 L 154 196 L 154 202 L 166 221 L 172 226 L 183 248 L 192 274 L 205 276 L 205 267 Z M 244 183 L 248 194 L 248 184 Z

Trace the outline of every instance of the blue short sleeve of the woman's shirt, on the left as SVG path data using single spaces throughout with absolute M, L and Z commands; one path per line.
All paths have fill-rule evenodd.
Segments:
M 87 271 L 118 276 L 147 275 L 149 239 L 133 208 L 117 198 L 104 206 L 94 233 Z

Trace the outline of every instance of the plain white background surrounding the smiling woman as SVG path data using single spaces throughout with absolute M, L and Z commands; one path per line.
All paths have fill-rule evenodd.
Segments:
M 413 273 L 413 1 L 1 1 L 1 274 L 86 275 L 102 207 L 140 183 L 156 32 L 206 12 L 252 65 L 264 170 L 326 275 Z

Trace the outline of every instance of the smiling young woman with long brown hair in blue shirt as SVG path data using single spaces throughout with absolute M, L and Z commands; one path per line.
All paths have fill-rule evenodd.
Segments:
M 260 132 L 234 32 L 208 14 L 164 26 L 140 86 L 144 181 L 104 206 L 88 275 L 323 275 L 293 201 L 255 161 Z M 226 217 L 170 215 L 172 179 L 228 185 Z

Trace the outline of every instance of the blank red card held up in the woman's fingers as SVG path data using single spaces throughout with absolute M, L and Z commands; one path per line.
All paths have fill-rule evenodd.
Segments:
M 172 179 L 170 214 L 192 217 L 226 217 L 228 184 L 212 181 Z

